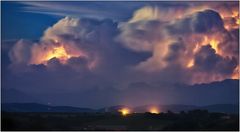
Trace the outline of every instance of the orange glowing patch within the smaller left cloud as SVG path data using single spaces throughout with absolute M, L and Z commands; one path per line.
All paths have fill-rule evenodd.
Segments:
M 29 64 L 44 64 L 48 65 L 48 61 L 56 58 L 61 64 L 67 64 L 68 60 L 72 57 L 81 57 L 87 60 L 87 68 L 93 70 L 99 64 L 97 56 L 91 57 L 86 51 L 59 42 L 57 39 L 51 45 L 35 44 L 32 48 L 32 58 Z

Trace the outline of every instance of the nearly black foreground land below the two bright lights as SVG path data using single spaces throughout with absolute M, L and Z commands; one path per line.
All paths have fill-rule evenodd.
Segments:
M 2 130 L 239 130 L 238 115 L 192 110 L 178 114 L 2 112 Z

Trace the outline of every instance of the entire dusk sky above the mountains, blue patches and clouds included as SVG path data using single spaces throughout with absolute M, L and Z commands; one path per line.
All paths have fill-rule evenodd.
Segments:
M 238 85 L 224 80 L 239 79 L 238 4 L 1 2 L 2 99 L 236 103 Z

